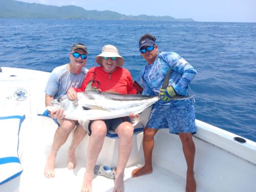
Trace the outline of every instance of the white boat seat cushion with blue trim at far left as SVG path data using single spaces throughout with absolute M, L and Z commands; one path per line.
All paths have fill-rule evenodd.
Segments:
M 24 116 L 0 117 L 0 185 L 23 172 L 18 157 L 19 130 Z

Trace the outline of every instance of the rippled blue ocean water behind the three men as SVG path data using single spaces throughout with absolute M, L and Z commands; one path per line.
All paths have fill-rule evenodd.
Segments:
M 51 72 L 69 62 L 73 43 L 83 42 L 90 68 L 112 44 L 139 80 L 144 33 L 156 36 L 160 51 L 177 52 L 198 71 L 191 82 L 197 119 L 256 141 L 256 23 L 0 19 L 0 67 Z

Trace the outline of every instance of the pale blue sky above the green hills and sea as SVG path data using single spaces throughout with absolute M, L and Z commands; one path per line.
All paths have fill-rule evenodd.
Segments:
M 256 22 L 255 0 L 19 0 L 44 5 L 75 5 L 86 10 L 110 10 L 125 15 L 193 18 L 198 22 Z

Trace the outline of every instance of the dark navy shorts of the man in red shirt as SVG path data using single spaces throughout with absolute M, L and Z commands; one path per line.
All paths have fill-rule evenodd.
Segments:
M 105 122 L 106 124 L 106 131 L 110 131 L 110 130 L 113 130 L 114 132 L 116 131 L 117 127 L 123 123 L 123 122 L 130 122 L 132 123 L 130 117 L 126 116 L 126 117 L 119 117 L 119 118 L 115 118 L 115 119 L 104 119 L 102 120 Z M 89 132 L 88 133 L 89 135 L 92 134 L 92 130 L 91 130 L 91 125 L 92 125 L 92 122 L 93 121 L 90 121 L 89 123 Z

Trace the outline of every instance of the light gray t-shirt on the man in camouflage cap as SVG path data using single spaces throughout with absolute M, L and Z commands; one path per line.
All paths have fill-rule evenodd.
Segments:
M 67 94 L 69 88 L 79 88 L 88 69 L 82 68 L 81 73 L 72 74 L 68 71 L 68 64 L 56 67 L 47 82 L 45 93 L 54 96 L 54 99 Z

